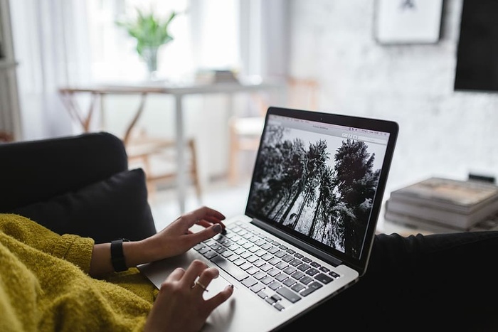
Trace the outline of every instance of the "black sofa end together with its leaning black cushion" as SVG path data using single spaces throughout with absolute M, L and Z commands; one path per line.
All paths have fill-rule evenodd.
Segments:
M 107 132 L 0 143 L 0 213 L 62 235 L 142 240 L 156 232 L 142 168 Z

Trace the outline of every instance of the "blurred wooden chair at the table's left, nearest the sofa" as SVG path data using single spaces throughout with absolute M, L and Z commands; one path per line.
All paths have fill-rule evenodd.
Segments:
M 63 103 L 83 127 L 84 132 L 91 131 L 92 117 L 95 115 L 98 100 L 100 100 L 100 110 L 104 109 L 103 99 L 107 92 L 90 89 L 59 89 Z M 90 107 L 86 114 L 83 114 L 75 100 L 76 95 L 90 93 Z M 166 181 L 171 182 L 176 179 L 176 141 L 163 137 L 151 136 L 143 128 L 137 127 L 137 123 L 144 112 L 147 92 L 142 92 L 140 102 L 134 117 L 129 122 L 122 141 L 127 150 L 130 168 L 142 167 L 147 176 L 147 188 L 151 195 L 157 191 L 157 187 Z M 103 113 L 103 112 L 102 112 Z M 195 186 L 198 200 L 201 200 L 201 182 L 197 171 L 196 144 L 193 138 L 186 139 L 186 155 L 188 159 L 187 175 Z

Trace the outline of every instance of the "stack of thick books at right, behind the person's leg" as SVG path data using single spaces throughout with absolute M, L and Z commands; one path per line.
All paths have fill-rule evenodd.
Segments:
M 498 186 L 428 178 L 391 192 L 384 218 L 433 232 L 498 229 Z

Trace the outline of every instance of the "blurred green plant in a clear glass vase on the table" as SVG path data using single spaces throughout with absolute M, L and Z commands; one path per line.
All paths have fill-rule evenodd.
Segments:
M 147 70 L 152 77 L 157 72 L 157 52 L 162 45 L 173 41 L 169 33 L 171 21 L 178 15 L 172 11 L 166 18 L 154 15 L 152 11 L 144 13 L 137 9 L 137 17 L 116 21 L 117 26 L 125 28 L 129 36 L 137 40 L 137 53 L 147 63 Z

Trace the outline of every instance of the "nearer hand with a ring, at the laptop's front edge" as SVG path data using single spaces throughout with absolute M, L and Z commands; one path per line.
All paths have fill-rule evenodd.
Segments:
M 161 284 L 144 330 L 201 330 L 209 314 L 233 294 L 233 286 L 230 285 L 211 299 L 203 299 L 205 288 L 216 277 L 218 269 L 208 268 L 199 260 L 194 260 L 186 270 L 175 269 Z

